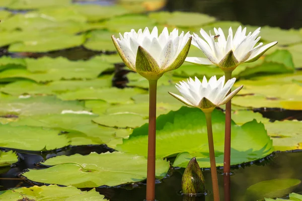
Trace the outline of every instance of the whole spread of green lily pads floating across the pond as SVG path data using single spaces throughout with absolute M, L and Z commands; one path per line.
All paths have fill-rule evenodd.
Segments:
M 2 193 L 0 198 L 6 200 L 6 196 L 14 196 L 12 200 L 18 200 L 26 195 L 34 199 L 37 196 L 34 192 L 39 191 L 47 197 L 50 196 L 47 188 L 58 188 L 62 190 L 62 195 L 58 193 L 58 196 L 70 197 L 70 200 L 74 200 L 71 196 L 100 200 L 104 196 L 94 190 L 82 194 L 71 186 L 117 186 L 144 180 L 148 81 L 130 72 L 127 87 L 112 86 L 115 64 L 122 60 L 115 52 L 111 35 L 155 25 L 159 30 L 166 26 L 169 31 L 178 28 L 196 33 L 200 27 L 206 32 L 221 27 L 225 32 L 230 26 L 240 25 L 195 13 L 144 14 L 152 5 L 156 8 L 161 5 L 159 1 L 147 6 L 135 1 L 132 3 L 135 7 L 123 2 L 130 1 L 120 1 L 118 6 L 82 5 L 66 0 L 0 1 L 0 6 L 6 8 L 0 12 L 0 45 L 9 52 L 0 57 L 0 147 L 6 148 L 1 151 L 0 167 L 20 160 L 20 150 L 55 151 L 67 146 L 99 144 L 116 150 L 50 158 L 42 163 L 48 168 L 30 169 L 22 175 L 35 182 L 68 187 L 34 186 L 33 193 L 28 188 L 20 188 Z M 256 29 L 247 28 L 248 31 Z M 233 72 L 239 80 L 235 87 L 242 84 L 245 87 L 232 100 L 232 165 L 263 158 L 273 151 L 301 149 L 301 122 L 270 122 L 254 110 L 302 110 L 302 60 L 299 56 L 302 32 L 263 27 L 261 37 L 264 42 L 278 41 L 278 50 L 270 50 L 256 62 L 241 64 Z M 64 57 L 24 57 L 77 46 L 96 54 L 113 54 L 77 61 Z M 203 55 L 192 46 L 188 56 Z M 205 116 L 198 109 L 181 105 L 167 93 L 178 92 L 175 83 L 203 75 L 209 78 L 222 76 L 223 72 L 215 66 L 184 63 L 159 79 L 158 178 L 165 177 L 171 165 L 186 167 L 193 156 L 200 167 L 210 167 Z M 212 119 L 216 165 L 222 166 L 223 111 L 214 110 Z M 174 161 L 171 164 L 170 159 Z

